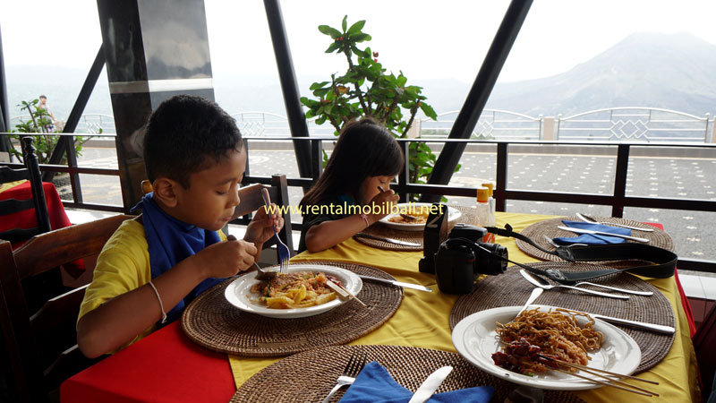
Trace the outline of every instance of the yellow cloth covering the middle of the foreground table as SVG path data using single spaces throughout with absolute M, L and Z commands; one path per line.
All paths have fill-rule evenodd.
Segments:
M 497 213 L 498 226 L 502 227 L 508 223 L 517 232 L 533 223 L 553 218 L 554 216 L 534 214 Z M 507 247 L 510 259 L 515 262 L 538 262 L 536 259 L 522 253 L 517 248 L 514 238 L 498 236 L 497 243 Z M 365 264 L 385 270 L 400 281 L 420 283 L 423 286 L 432 288 L 431 293 L 405 288 L 403 303 L 397 309 L 395 315 L 377 330 L 354 340 L 350 344 L 413 346 L 456 352 L 452 344 L 448 318 L 458 296 L 441 294 L 435 282 L 435 277 L 418 271 L 418 261 L 421 257 L 422 252 L 384 251 L 361 244 L 351 238 L 327 251 L 300 253 L 294 256 L 291 262 L 328 260 Z M 659 288 L 674 307 L 677 335 L 669 354 L 661 363 L 639 376 L 660 383 L 658 386 L 648 385 L 647 389 L 659 393 L 661 401 L 700 401 L 701 396 L 696 381 L 694 347 L 689 337 L 688 322 L 686 322 L 686 314 L 681 306 L 676 282 L 670 278 L 646 280 L 654 287 Z M 240 387 L 254 373 L 280 359 L 281 357 L 229 356 L 229 364 L 234 373 L 236 387 Z M 589 402 L 656 401 L 609 387 L 575 391 L 575 394 Z

